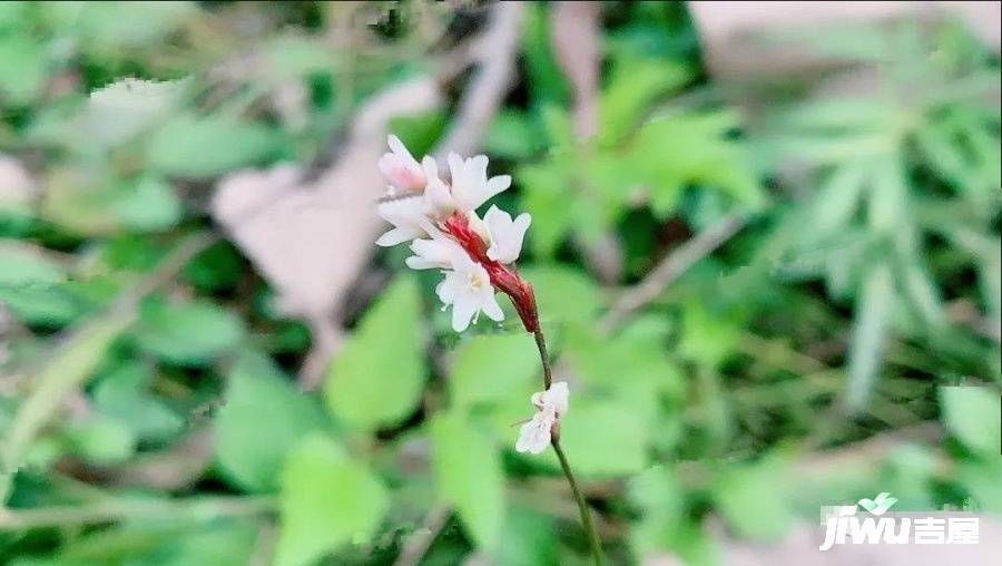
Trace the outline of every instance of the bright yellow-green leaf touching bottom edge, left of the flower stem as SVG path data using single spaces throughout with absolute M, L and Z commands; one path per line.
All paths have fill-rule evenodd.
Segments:
M 312 564 L 348 543 L 372 538 L 390 496 L 379 478 L 330 438 L 311 436 L 282 471 L 278 566 Z

